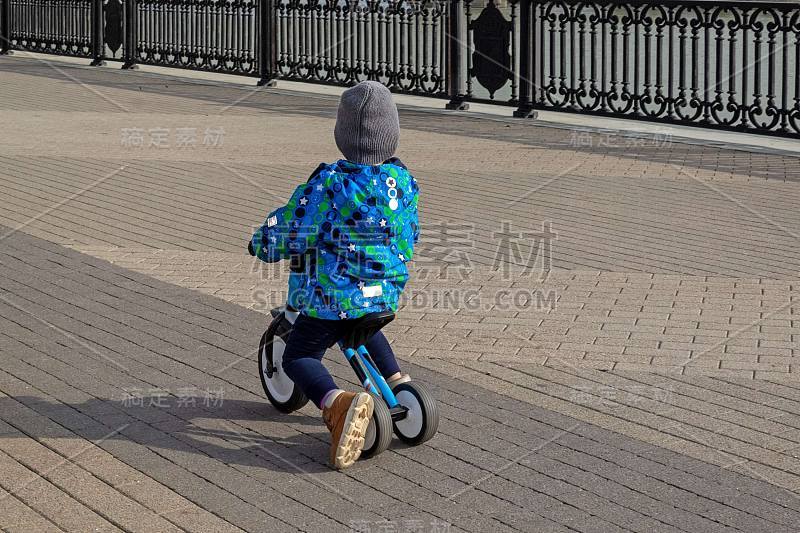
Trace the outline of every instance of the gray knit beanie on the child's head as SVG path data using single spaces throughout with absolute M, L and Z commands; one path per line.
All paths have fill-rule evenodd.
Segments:
M 362 81 L 342 93 L 336 146 L 353 163 L 380 165 L 394 155 L 400 139 L 400 120 L 392 93 L 377 81 Z

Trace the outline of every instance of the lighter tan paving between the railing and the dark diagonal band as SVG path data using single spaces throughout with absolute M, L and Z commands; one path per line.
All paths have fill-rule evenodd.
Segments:
M 285 277 L 254 281 L 243 242 L 311 154 L 335 157 L 335 101 L 57 69 L 0 62 L 15 124 L 0 133 L 0 222 L 247 307 L 275 301 Z M 33 134 L 54 113 L 63 126 Z M 442 116 L 402 112 L 423 184 L 417 262 L 432 276 L 415 277 L 401 321 L 417 347 L 442 343 L 415 355 L 794 379 L 800 158 Z M 219 144 L 201 144 L 216 127 Z M 181 128 L 196 146 L 178 145 Z M 230 253 L 212 268 L 209 252 Z M 550 269 L 570 273 L 537 283 Z

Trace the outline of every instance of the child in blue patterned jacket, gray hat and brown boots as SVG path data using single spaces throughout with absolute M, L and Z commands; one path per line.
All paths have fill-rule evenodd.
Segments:
M 366 392 L 337 388 L 322 356 L 353 319 L 397 309 L 419 237 L 417 182 L 392 157 L 399 136 L 386 87 L 365 81 L 346 90 L 334 130 L 345 159 L 321 164 L 250 242 L 263 261 L 292 261 L 287 306 L 300 315 L 283 370 L 322 409 L 335 468 L 358 459 L 374 404 Z M 409 381 L 381 332 L 366 347 L 390 387 Z

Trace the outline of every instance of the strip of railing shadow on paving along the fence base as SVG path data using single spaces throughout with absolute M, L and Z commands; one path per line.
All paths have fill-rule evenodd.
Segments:
M 333 96 L 300 95 L 274 89 L 252 92 L 250 88 L 197 80 L 187 81 L 131 71 L 120 73 L 104 69 L 90 70 L 69 65 L 60 65 L 56 70 L 37 59 L 0 60 L 0 72 L 14 72 L 45 79 L 63 81 L 65 74 L 62 71 L 65 70 L 82 83 L 100 87 L 168 95 L 212 105 L 230 106 L 235 103 L 235 107 L 240 110 L 251 109 L 263 113 L 327 119 L 336 117 L 337 99 Z M 441 103 L 444 108 L 445 100 Z M 537 124 L 535 120 L 512 119 L 511 111 L 512 108 L 509 107 L 509 117 L 498 120 L 494 117 L 443 114 L 435 110 L 401 106 L 400 122 L 404 130 L 410 131 L 492 139 L 531 148 L 602 154 L 662 164 L 675 163 L 687 170 L 713 170 L 754 178 L 800 181 L 800 167 L 797 165 L 765 165 L 761 158 L 739 157 L 736 150 L 726 150 L 727 145 L 724 143 L 717 149 L 709 148 L 708 142 L 689 144 L 673 141 L 671 135 L 666 133 L 630 135 L 612 129 L 597 131 L 588 128 L 554 128 Z M 763 157 L 775 157 L 770 156 L 763 148 L 758 148 L 757 151 Z

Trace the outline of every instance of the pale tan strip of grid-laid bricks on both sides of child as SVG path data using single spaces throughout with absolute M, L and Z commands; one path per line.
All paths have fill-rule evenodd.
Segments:
M 80 248 L 269 313 L 287 273 L 235 253 Z M 798 284 L 641 272 L 417 268 L 393 328 L 408 355 L 798 382 Z

